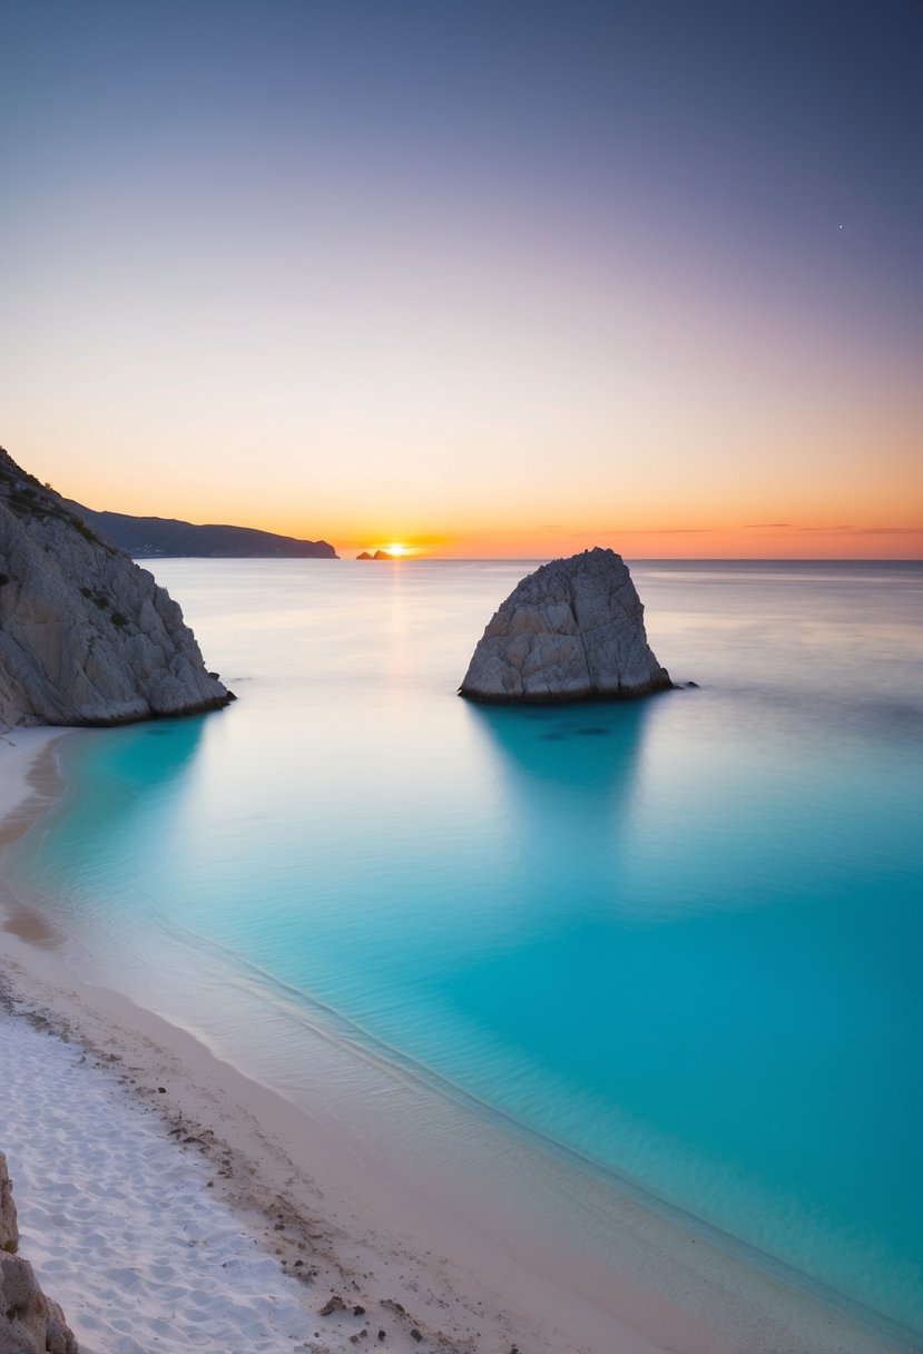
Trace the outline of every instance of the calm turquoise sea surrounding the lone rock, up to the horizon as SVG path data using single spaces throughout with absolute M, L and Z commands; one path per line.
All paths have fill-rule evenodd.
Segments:
M 700 689 L 544 711 L 455 696 L 521 563 L 154 571 L 240 700 L 83 739 L 20 883 L 283 1089 L 328 1010 L 923 1332 L 922 566 L 636 565 Z

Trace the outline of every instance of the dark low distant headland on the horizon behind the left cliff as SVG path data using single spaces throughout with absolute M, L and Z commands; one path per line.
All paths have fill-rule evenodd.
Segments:
M 120 512 L 93 512 L 68 502 L 97 536 L 133 559 L 338 559 L 326 540 L 296 540 L 254 527 L 198 527 L 173 517 L 133 517 Z

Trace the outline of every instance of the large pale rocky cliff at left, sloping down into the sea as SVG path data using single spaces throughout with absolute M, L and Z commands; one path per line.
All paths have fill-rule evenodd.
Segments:
M 0 448 L 0 722 L 119 724 L 229 700 L 152 574 Z

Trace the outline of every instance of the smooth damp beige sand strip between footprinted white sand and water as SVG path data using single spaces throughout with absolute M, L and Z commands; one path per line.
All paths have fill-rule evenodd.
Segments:
M 0 749 L 0 841 L 20 835 L 54 803 L 61 785 L 49 776 L 49 754 L 66 733 L 16 731 L 12 753 Z M 452 1209 L 451 1200 L 420 1197 L 409 1187 L 406 1163 L 403 1174 L 388 1173 L 374 1135 L 344 1132 L 351 1125 L 337 1124 L 322 1098 L 311 1113 L 217 1057 L 188 1030 L 83 982 L 62 957 L 62 937 L 41 917 L 12 902 L 5 888 L 0 907 L 8 914 L 0 951 L 20 1006 L 38 1007 L 46 1026 L 97 1062 L 130 1068 L 123 1094 L 158 1116 L 166 1136 L 192 1140 L 185 1150 L 214 1171 L 206 1187 L 234 1209 L 264 1250 L 280 1251 L 290 1271 L 298 1259 L 314 1271 L 311 1284 L 302 1285 L 307 1349 L 315 1331 L 318 1350 L 355 1343 L 351 1311 L 318 1315 L 333 1293 L 360 1294 L 353 1305 L 368 1313 L 368 1338 L 386 1330 L 386 1349 L 884 1354 L 915 1347 L 854 1324 L 629 1198 L 614 1209 L 618 1235 L 608 1265 L 594 1267 L 582 1257 L 568 1270 L 554 1238 L 547 1247 L 535 1240 L 518 1251 L 502 1244 L 503 1236 L 514 1239 L 514 1227 L 501 1229 L 498 1242 Z M 495 1131 L 482 1125 L 480 1132 L 487 1140 Z M 547 1174 L 555 1170 L 548 1166 Z M 70 1319 L 54 1275 L 42 1278 Z

